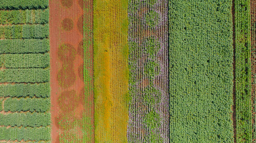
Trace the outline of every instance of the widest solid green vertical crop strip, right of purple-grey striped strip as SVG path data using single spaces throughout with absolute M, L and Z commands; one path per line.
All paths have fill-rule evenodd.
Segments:
M 170 142 L 234 142 L 231 1 L 168 4 Z

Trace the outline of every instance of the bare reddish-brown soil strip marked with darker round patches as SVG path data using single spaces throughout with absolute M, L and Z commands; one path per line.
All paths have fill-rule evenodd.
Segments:
M 70 142 L 83 142 L 82 123 L 75 123 L 82 122 L 85 114 L 85 103 L 80 102 L 85 100 L 81 94 L 85 87 L 84 80 L 80 75 L 83 50 L 79 49 L 83 29 L 77 24 L 83 23 L 81 2 L 49 1 L 52 142 L 61 142 L 60 136 Z M 79 140 L 74 140 L 73 134 Z

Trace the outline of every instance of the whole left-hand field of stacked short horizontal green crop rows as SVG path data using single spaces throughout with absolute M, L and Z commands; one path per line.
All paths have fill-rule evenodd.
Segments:
M 50 142 L 49 3 L 24 4 L 0 4 L 0 140 Z

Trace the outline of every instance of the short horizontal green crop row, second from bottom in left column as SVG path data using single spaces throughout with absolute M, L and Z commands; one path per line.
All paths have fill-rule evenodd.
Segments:
M 23 126 L 23 127 L 40 127 L 51 124 L 50 113 L 10 113 L 0 114 L 1 126 Z

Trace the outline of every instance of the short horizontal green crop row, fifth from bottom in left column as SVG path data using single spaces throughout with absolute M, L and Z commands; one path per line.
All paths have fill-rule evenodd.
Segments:
M 4 69 L 0 71 L 0 83 L 37 83 L 49 81 L 49 69 Z

